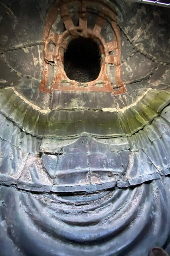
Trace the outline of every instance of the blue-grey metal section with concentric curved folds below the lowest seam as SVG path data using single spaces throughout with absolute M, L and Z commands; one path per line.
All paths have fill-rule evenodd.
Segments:
M 4 251 L 10 255 L 18 247 L 12 254 L 17 256 L 147 255 L 169 236 L 169 188 L 168 177 L 86 196 L 28 194 L 2 186 Z

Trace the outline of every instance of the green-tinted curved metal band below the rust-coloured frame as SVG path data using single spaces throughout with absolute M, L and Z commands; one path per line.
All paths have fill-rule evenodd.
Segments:
M 83 133 L 99 137 L 131 136 L 149 124 L 170 102 L 170 94 L 149 90 L 143 98 L 125 110 L 58 111 L 34 108 L 12 88 L 0 91 L 1 113 L 32 136 L 73 137 Z

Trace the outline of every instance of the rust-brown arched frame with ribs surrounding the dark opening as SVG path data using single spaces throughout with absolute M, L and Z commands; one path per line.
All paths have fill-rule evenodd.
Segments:
M 43 92 L 50 93 L 53 90 L 59 91 L 106 91 L 114 92 L 115 94 L 123 94 L 126 92 L 126 88 L 122 82 L 122 71 L 121 71 L 121 40 L 120 34 L 115 21 L 115 13 L 110 6 L 102 5 L 99 1 L 93 1 L 100 5 L 100 12 L 98 13 L 98 18 L 94 29 L 91 30 L 87 27 L 87 7 L 89 1 L 76 1 L 80 3 L 80 15 L 79 15 L 79 26 L 75 27 L 71 15 L 68 9 L 68 3 L 74 2 L 75 0 L 66 0 L 56 2 L 50 9 L 47 16 L 46 25 L 43 33 L 43 44 L 44 44 L 44 69 L 43 78 L 39 90 Z M 90 1 L 91 2 L 91 1 Z M 56 20 L 57 15 L 63 19 L 66 30 L 63 34 L 58 35 L 51 31 L 51 27 Z M 106 43 L 104 38 L 101 36 L 102 27 L 106 21 L 106 17 L 109 17 L 109 22 L 115 33 L 115 40 Z M 108 18 L 107 18 L 108 19 Z M 99 50 L 103 57 L 101 60 L 101 71 L 99 77 L 91 82 L 88 82 L 88 86 L 79 86 L 80 83 L 70 80 L 67 78 L 64 71 L 64 53 L 67 49 L 70 37 L 71 39 L 76 39 L 79 36 L 85 38 L 92 38 L 94 41 L 100 44 Z M 69 40 L 68 40 L 69 39 Z M 48 46 L 50 42 L 56 45 L 55 52 L 50 52 Z M 111 51 L 115 51 L 115 55 L 109 55 Z M 48 76 L 49 76 L 49 63 L 56 62 L 57 64 L 57 74 L 54 77 L 51 89 L 46 88 Z M 109 80 L 106 71 L 107 65 L 114 64 L 116 67 L 116 80 L 118 85 L 118 90 L 114 91 L 113 85 Z M 103 81 L 103 87 L 96 87 L 96 82 Z M 69 87 L 60 86 L 61 81 L 70 82 Z M 81 83 L 83 85 L 83 83 Z

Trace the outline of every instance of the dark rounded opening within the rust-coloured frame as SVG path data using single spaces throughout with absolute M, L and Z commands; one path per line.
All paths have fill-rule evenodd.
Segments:
M 100 73 L 99 47 L 91 38 L 72 40 L 64 55 L 64 70 L 69 79 L 87 83 Z

